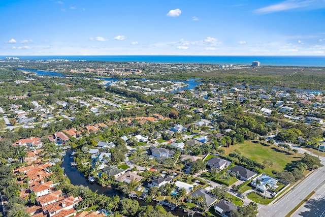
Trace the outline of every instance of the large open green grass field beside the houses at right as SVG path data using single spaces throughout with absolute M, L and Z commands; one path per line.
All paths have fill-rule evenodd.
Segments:
M 255 160 L 259 163 L 263 161 L 272 162 L 271 167 L 264 169 L 265 173 L 272 174 L 272 170 L 283 171 L 290 169 L 297 161 L 302 159 L 300 154 L 287 153 L 283 149 L 266 143 L 257 141 L 245 141 L 241 144 L 231 145 L 230 147 L 223 147 L 225 156 L 229 153 L 234 153 L 235 149 L 239 150 L 241 154 L 247 158 Z

